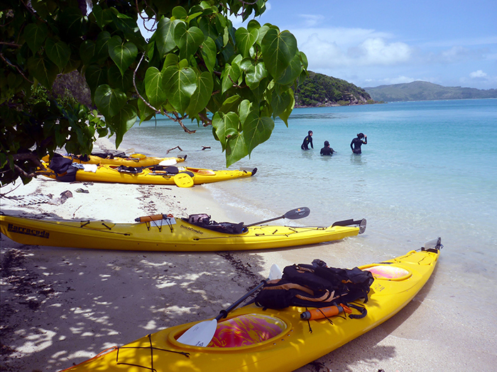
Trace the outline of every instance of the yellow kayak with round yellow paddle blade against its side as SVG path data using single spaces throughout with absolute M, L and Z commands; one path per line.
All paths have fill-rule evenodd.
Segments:
M 44 165 L 48 168 L 48 164 L 45 163 Z M 217 171 L 213 169 L 160 165 L 152 167 L 126 167 L 123 165 L 107 164 L 93 165 L 94 169 L 77 169 L 75 171 L 75 181 L 191 187 L 193 185 L 250 177 L 256 174 L 257 171 L 257 168 L 254 168 L 252 171 Z M 68 181 L 64 179 L 66 173 L 58 174 L 55 171 L 51 171 L 50 174 L 43 172 L 40 172 L 40 174 L 52 179 Z

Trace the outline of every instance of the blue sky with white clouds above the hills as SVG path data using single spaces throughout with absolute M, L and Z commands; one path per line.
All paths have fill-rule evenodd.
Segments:
M 430 81 L 497 89 L 497 0 L 270 0 L 308 69 L 362 88 Z M 235 18 L 236 28 L 246 23 Z

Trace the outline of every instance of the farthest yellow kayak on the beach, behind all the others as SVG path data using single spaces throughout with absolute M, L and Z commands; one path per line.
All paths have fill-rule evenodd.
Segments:
M 131 154 L 129 156 L 114 156 L 114 157 L 100 157 L 97 155 L 76 156 L 67 155 L 65 156 L 72 159 L 72 162 L 78 164 L 107 164 L 107 165 L 124 165 L 126 167 L 151 167 L 152 165 L 157 165 L 161 162 L 175 161 L 176 163 L 185 162 L 185 157 L 148 157 L 143 154 Z M 43 162 L 50 162 L 48 155 L 42 158 Z

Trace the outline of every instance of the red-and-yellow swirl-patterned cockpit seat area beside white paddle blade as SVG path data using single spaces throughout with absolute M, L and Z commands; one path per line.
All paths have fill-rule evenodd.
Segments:
M 208 347 L 240 347 L 260 344 L 285 330 L 285 322 L 277 317 L 245 314 L 217 324 Z

